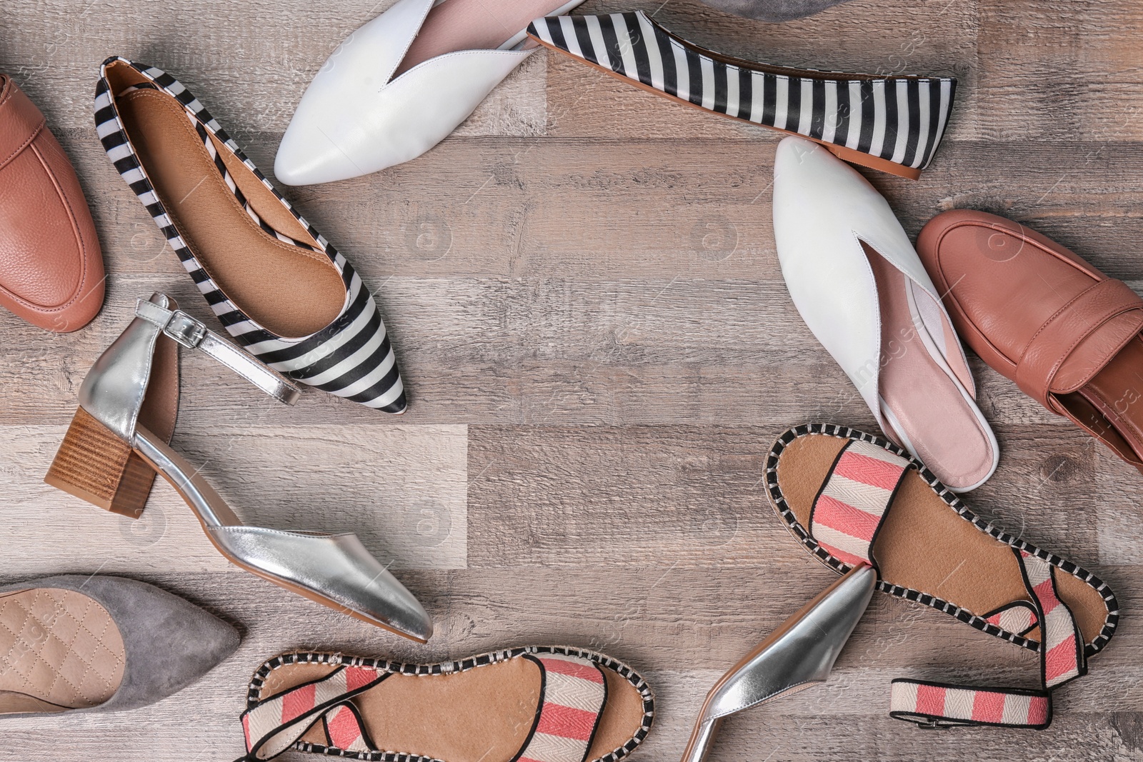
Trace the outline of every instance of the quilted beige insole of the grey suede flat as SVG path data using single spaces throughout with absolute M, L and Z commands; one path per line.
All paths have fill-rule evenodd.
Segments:
M 98 706 L 119 690 L 125 665 L 119 627 L 87 595 L 0 596 L 0 715 Z

